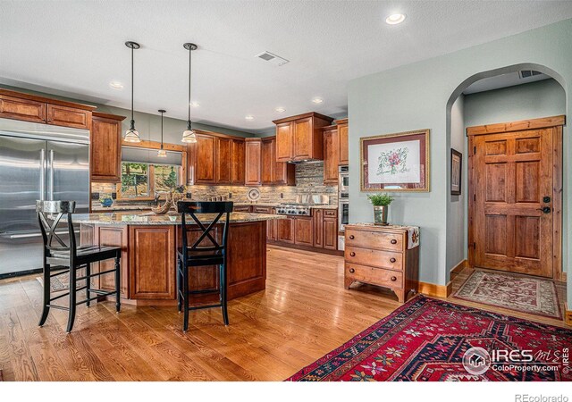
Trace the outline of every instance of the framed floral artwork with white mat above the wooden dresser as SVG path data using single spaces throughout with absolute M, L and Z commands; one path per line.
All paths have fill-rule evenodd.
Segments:
M 359 139 L 362 191 L 429 191 L 429 130 Z

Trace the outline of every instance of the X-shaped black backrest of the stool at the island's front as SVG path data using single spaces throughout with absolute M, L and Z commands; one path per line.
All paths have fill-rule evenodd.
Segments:
M 177 211 L 181 214 L 181 235 L 182 235 L 182 252 L 183 255 L 187 255 L 189 251 L 213 251 L 224 252 L 226 250 L 226 244 L 228 239 L 228 226 L 230 222 L 230 215 L 232 212 L 233 203 L 231 202 L 194 202 L 194 201 L 179 201 L 177 202 Z M 189 247 L 188 245 L 188 233 L 192 230 L 187 224 L 186 215 L 189 214 L 192 220 L 197 223 L 200 230 L 202 230 L 201 235 L 198 239 Z M 209 214 L 201 222 L 198 219 L 197 214 Z M 215 225 L 219 220 L 225 216 L 223 222 L 223 241 L 219 243 L 216 236 L 211 233 Z M 208 223 L 208 226 L 205 224 Z M 204 239 L 209 239 L 213 243 L 212 247 L 199 247 Z

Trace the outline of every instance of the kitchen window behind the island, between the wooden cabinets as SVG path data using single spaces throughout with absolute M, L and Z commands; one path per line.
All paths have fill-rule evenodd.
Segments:
M 119 198 L 153 198 L 156 192 L 170 191 L 180 184 L 181 166 L 122 162 Z

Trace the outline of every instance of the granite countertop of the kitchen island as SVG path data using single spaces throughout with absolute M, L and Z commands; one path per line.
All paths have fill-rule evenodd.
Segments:
M 210 222 L 216 214 L 200 214 L 198 217 L 201 222 Z M 273 219 L 284 219 L 283 215 L 275 214 L 248 214 L 248 213 L 231 213 L 231 223 L 241 222 L 258 222 L 269 221 Z M 221 218 L 224 222 L 224 218 Z M 130 214 L 130 213 L 97 213 L 97 214 L 74 214 L 74 223 L 91 223 L 97 225 L 180 225 L 181 216 L 175 212 L 169 214 L 157 215 L 153 213 L 147 214 Z M 189 222 L 195 224 L 195 222 Z

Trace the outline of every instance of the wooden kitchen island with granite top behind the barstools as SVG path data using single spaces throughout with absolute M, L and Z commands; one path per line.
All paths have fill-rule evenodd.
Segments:
M 207 214 L 198 216 L 205 222 L 214 217 Z M 231 214 L 226 270 L 229 300 L 265 289 L 266 222 L 274 219 L 282 219 L 282 216 Z M 75 214 L 73 222 L 80 225 L 82 246 L 122 247 L 122 302 L 144 306 L 176 305 L 176 253 L 181 247 L 179 214 Z M 189 233 L 191 244 L 201 234 L 196 227 L 196 231 Z M 223 225 L 217 224 L 211 233 L 221 241 Z M 203 246 L 210 244 L 208 239 L 203 240 Z M 106 271 L 113 264 L 111 260 L 93 264 L 92 271 Z M 190 272 L 190 289 L 217 289 L 219 278 L 215 267 L 195 267 Z M 93 281 L 94 288 L 114 289 L 113 274 L 102 275 Z M 210 303 L 217 297 L 194 295 L 191 303 Z

